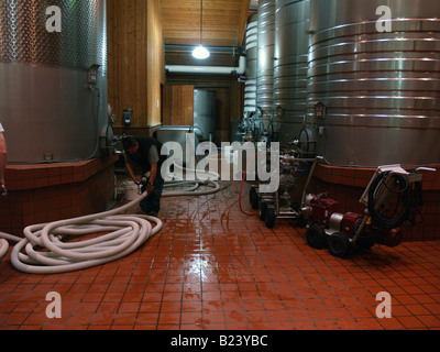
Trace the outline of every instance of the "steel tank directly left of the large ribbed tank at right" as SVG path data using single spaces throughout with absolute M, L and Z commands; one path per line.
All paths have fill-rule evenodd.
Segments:
M 307 113 L 310 0 L 276 0 L 274 108 L 284 147 L 299 136 Z

